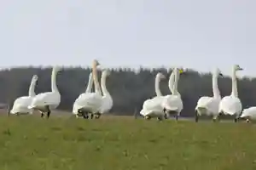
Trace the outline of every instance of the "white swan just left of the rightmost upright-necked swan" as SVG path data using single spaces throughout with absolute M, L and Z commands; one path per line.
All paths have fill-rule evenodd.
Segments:
M 207 115 L 213 116 L 215 121 L 218 117 L 218 105 L 221 100 L 221 95 L 218 90 L 218 76 L 223 77 L 223 74 L 217 68 L 212 72 L 212 94 L 213 97 L 201 97 L 195 107 L 195 122 L 198 122 L 198 116 Z

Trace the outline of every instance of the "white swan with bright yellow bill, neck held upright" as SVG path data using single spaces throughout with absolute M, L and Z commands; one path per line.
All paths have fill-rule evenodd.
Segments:
M 180 73 L 183 73 L 183 69 L 175 68 L 173 71 L 175 74 L 175 82 L 172 88 L 173 93 L 172 95 L 165 96 L 165 99 L 163 99 L 161 106 L 163 108 L 163 111 L 168 116 L 170 116 L 171 114 L 176 114 L 176 120 L 177 120 L 177 116 L 179 116 L 180 112 L 183 110 L 183 100 L 181 99 L 181 95 L 177 91 L 177 82 L 178 82 Z

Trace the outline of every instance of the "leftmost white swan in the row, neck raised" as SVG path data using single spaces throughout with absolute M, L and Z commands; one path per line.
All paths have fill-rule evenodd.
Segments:
M 11 114 L 32 114 L 32 109 L 28 109 L 27 106 L 31 105 L 32 99 L 36 96 L 35 94 L 35 86 L 38 81 L 38 76 L 34 75 L 32 77 L 32 81 L 30 83 L 30 87 L 28 90 L 28 96 L 22 96 L 18 99 L 15 99 Z

